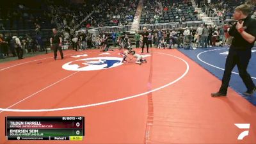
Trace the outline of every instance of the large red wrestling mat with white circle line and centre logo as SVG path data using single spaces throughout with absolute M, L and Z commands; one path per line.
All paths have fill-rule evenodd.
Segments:
M 142 65 L 118 50 L 1 63 L 0 143 L 255 143 L 255 106 L 234 90 L 212 98 L 221 82 L 181 52 L 150 51 Z M 84 140 L 7 141 L 5 116 L 85 116 Z

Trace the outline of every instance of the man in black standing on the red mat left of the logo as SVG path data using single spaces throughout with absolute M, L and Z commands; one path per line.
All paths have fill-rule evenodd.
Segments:
M 63 53 L 62 53 L 62 49 L 61 49 L 61 45 L 62 45 L 62 38 L 60 33 L 58 33 L 56 28 L 52 29 L 52 33 L 53 35 L 51 36 L 50 42 L 51 42 L 51 47 L 53 49 L 54 52 L 54 60 L 56 60 L 57 58 L 57 51 L 60 51 L 60 56 L 61 56 L 61 60 L 64 58 L 63 57 Z

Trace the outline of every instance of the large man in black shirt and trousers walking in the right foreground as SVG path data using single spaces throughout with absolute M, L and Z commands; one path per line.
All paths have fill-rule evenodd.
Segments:
M 228 52 L 220 90 L 217 93 L 211 93 L 212 97 L 227 95 L 228 83 L 235 65 L 237 65 L 239 76 L 243 79 L 247 88 L 247 91 L 243 94 L 252 95 L 255 92 L 255 84 L 250 74 L 246 71 L 256 37 L 256 21 L 248 17 L 251 11 L 250 6 L 247 4 L 237 6 L 235 9 L 234 19 L 238 21 L 228 31 L 228 35 L 234 36 L 234 39 Z

